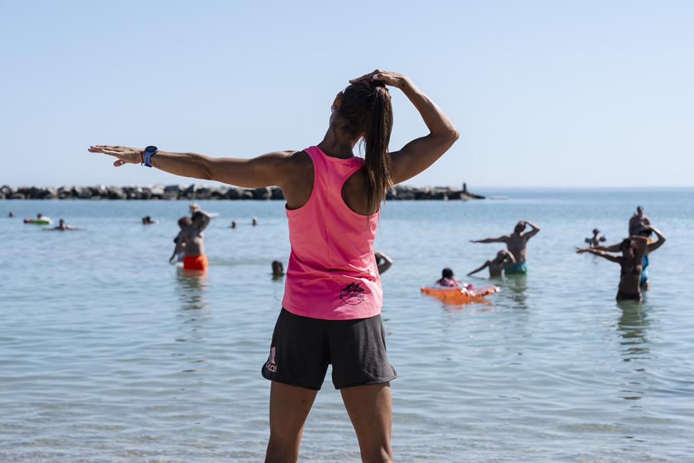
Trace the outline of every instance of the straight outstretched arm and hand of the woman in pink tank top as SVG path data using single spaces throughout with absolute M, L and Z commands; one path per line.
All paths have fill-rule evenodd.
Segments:
M 113 165 L 140 164 L 144 149 L 128 146 L 95 145 L 90 153 L 103 153 L 118 158 Z M 244 188 L 278 185 L 282 187 L 290 178 L 296 165 L 295 151 L 273 151 L 257 158 L 210 158 L 196 153 L 158 151 L 151 158 L 151 165 L 170 174 L 183 177 L 216 180 Z

